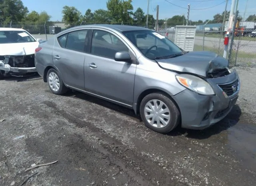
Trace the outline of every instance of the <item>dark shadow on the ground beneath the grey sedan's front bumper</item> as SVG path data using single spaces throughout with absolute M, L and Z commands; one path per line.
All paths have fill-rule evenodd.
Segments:
M 230 113 L 220 122 L 206 128 L 204 130 L 192 130 L 192 129 L 184 129 L 181 127 L 176 128 L 175 130 L 171 131 L 167 135 L 169 136 L 177 136 L 177 135 L 184 135 L 188 138 L 193 139 L 207 139 L 213 135 L 219 134 L 220 132 L 227 130 L 228 128 L 235 126 L 238 121 L 240 120 L 240 116 L 242 111 L 238 105 L 235 105 Z

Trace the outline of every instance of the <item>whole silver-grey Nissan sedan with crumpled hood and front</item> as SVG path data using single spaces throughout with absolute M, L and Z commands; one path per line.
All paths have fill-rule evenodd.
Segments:
M 225 58 L 185 52 L 165 36 L 136 26 L 64 30 L 39 44 L 35 64 L 54 94 L 70 88 L 132 108 L 160 133 L 219 122 L 240 90 L 238 73 Z

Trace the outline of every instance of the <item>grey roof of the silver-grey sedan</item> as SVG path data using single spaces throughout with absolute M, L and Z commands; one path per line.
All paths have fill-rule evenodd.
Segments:
M 124 32 L 124 31 L 132 31 L 132 30 L 150 30 L 148 28 L 144 28 L 141 26 L 129 26 L 129 25 L 120 25 L 120 24 L 88 24 L 88 25 L 82 25 L 82 26 L 75 26 L 72 28 L 68 28 L 66 30 L 63 30 L 62 32 L 58 33 L 57 35 L 61 35 L 64 32 L 68 32 L 70 30 L 74 29 L 80 29 L 80 28 L 106 28 L 115 30 L 117 32 Z

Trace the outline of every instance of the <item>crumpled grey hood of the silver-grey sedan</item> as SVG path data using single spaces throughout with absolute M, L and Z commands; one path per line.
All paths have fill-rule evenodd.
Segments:
M 187 72 L 203 77 L 214 70 L 224 69 L 228 66 L 228 61 L 214 52 L 188 52 L 176 58 L 156 61 L 167 70 Z

